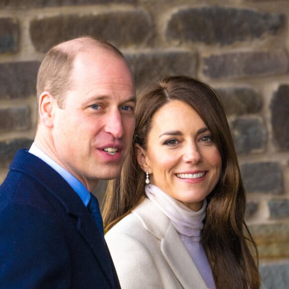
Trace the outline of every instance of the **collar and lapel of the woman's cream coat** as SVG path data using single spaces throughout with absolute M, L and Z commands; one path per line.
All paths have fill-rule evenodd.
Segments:
M 181 286 L 208 289 L 170 220 L 147 198 L 133 213 L 144 228 L 160 240 L 160 251 Z

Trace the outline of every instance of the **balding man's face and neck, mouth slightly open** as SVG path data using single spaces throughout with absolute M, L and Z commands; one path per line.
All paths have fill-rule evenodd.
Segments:
M 126 62 L 96 48 L 79 54 L 63 108 L 53 104 L 56 161 L 91 191 L 121 170 L 135 129 L 136 93 Z

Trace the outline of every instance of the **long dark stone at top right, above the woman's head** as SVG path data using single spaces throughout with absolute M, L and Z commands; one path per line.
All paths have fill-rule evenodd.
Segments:
M 285 25 L 285 16 L 226 7 L 186 8 L 171 15 L 168 39 L 231 44 L 236 41 L 276 34 Z

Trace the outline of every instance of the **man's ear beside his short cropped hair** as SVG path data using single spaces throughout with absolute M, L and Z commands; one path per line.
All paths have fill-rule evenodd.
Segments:
M 39 97 L 39 120 L 45 127 L 53 127 L 53 106 L 56 105 L 55 102 L 56 100 L 47 91 L 42 92 Z

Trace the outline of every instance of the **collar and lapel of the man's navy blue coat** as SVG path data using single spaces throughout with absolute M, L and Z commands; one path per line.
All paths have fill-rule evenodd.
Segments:
M 104 275 L 114 288 L 112 261 L 106 243 L 78 194 L 53 168 L 26 150 L 17 151 L 9 168 L 36 179 L 61 203 L 70 217 L 77 218 L 76 229 L 92 249 Z

